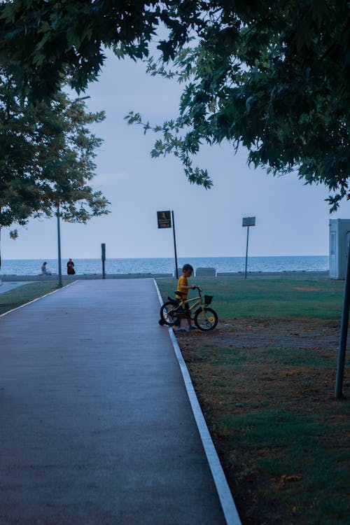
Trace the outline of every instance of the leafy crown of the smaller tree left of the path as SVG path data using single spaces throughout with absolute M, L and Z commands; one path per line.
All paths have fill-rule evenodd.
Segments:
M 57 207 L 65 221 L 108 213 L 109 202 L 88 185 L 102 141 L 87 126 L 104 113 L 87 113 L 62 90 L 50 102 L 21 101 L 14 69 L 0 66 L 0 227 L 51 216 Z

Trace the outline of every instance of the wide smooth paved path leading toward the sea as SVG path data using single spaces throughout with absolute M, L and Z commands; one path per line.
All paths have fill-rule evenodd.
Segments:
M 1 525 L 221 525 L 153 281 L 0 317 Z

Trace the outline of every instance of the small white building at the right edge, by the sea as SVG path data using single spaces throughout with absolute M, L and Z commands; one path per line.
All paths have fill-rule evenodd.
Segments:
M 330 279 L 345 279 L 350 244 L 350 219 L 330 219 Z

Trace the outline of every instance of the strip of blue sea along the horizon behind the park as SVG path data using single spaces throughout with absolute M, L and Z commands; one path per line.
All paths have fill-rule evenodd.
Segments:
M 58 273 L 57 259 L 46 259 L 52 274 Z M 101 259 L 74 259 L 76 274 L 102 274 Z M 67 260 L 62 259 L 62 274 L 66 273 Z M 195 269 L 215 268 L 216 272 L 245 272 L 245 257 L 188 257 L 178 258 L 178 267 L 186 262 Z M 41 273 L 43 260 L 2 260 L 0 275 L 21 276 Z M 290 257 L 248 257 L 248 272 L 326 272 L 329 270 L 328 255 L 294 255 Z M 106 274 L 174 274 L 174 258 L 107 259 Z

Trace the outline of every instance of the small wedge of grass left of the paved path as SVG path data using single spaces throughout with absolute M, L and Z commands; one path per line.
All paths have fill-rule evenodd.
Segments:
M 63 279 L 63 286 L 70 282 Z M 18 288 L 13 288 L 13 290 L 8 292 L 0 293 L 0 315 L 54 290 L 57 290 L 56 281 L 33 281 L 29 284 L 18 286 Z

